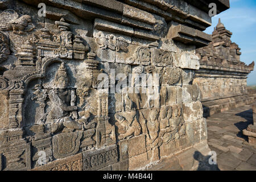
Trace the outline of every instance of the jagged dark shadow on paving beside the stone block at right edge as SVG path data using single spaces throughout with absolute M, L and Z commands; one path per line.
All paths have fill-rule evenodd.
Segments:
M 246 111 L 242 111 L 241 113 L 237 113 L 236 115 L 246 119 L 246 122 L 241 121 L 241 122 L 234 123 L 234 125 L 240 130 L 237 133 L 237 137 L 243 138 L 248 142 L 248 137 L 246 135 L 243 135 L 242 130 L 247 129 L 247 127 L 250 124 L 253 124 L 253 110 L 249 109 Z

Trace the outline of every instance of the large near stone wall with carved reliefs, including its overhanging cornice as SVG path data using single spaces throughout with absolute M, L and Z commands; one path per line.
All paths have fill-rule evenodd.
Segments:
M 208 3 L 0 1 L 0 169 L 148 169 L 192 147 L 206 155 L 192 81 L 196 48 L 211 41 Z

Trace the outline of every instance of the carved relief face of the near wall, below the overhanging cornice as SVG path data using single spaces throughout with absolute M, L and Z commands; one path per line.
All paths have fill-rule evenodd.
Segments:
M 17 12 L 0 12 L 1 169 L 147 166 L 190 134 L 185 121 L 202 118 L 199 96 L 182 94 L 182 68 L 197 69 L 191 46 L 93 29 L 70 10 L 40 20 Z

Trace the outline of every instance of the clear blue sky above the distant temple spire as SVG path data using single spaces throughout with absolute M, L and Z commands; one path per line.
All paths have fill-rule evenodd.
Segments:
M 212 26 L 204 32 L 212 34 L 218 18 L 233 33 L 231 40 L 241 48 L 241 61 L 247 65 L 252 61 L 256 64 L 256 1 L 230 0 L 230 9 L 214 16 Z M 247 78 L 247 84 L 256 85 L 256 65 Z

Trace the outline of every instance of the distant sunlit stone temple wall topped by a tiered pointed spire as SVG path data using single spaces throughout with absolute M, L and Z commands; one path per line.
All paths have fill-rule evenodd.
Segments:
M 247 76 L 254 69 L 240 61 L 240 48 L 232 43 L 232 32 L 224 24 L 217 24 L 212 42 L 196 50 L 200 69 L 195 73 L 193 85 L 201 90 L 204 115 L 208 116 L 254 102 L 254 94 L 247 90 Z

